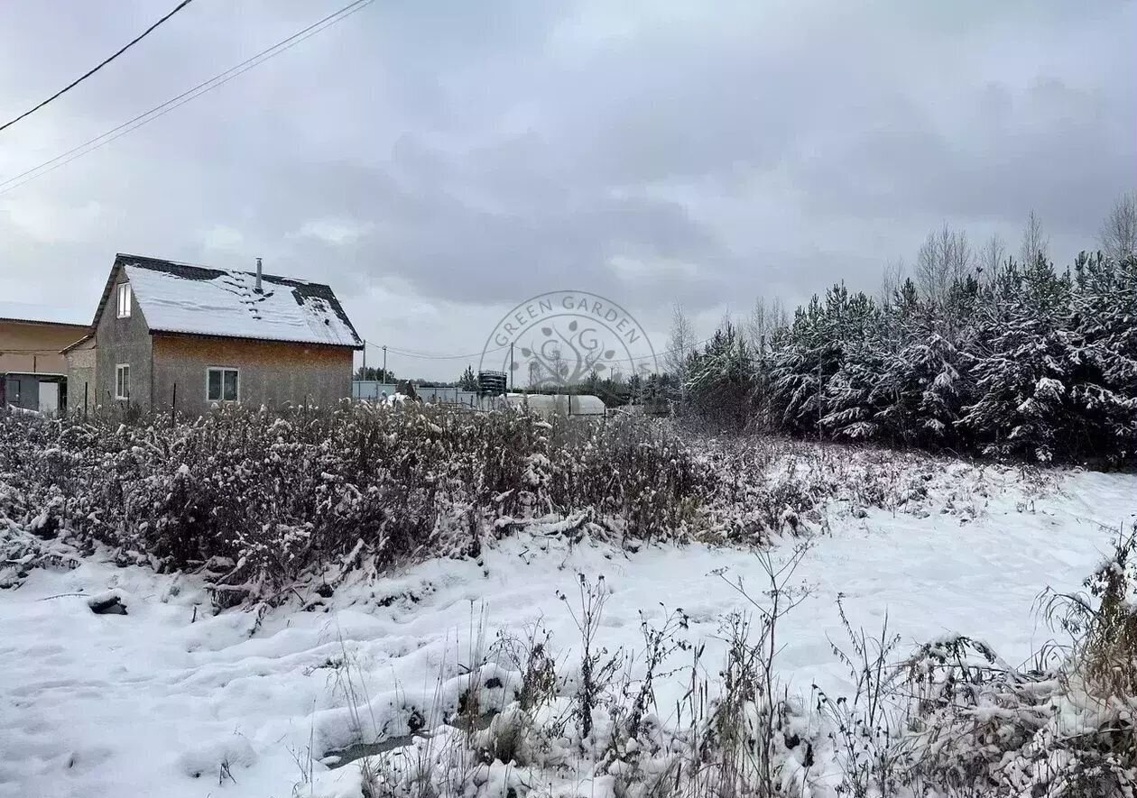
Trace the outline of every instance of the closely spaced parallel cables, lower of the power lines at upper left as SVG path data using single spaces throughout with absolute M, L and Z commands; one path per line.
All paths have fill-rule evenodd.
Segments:
M 83 156 L 93 152 L 94 150 L 101 147 L 105 147 L 106 144 L 109 144 L 116 139 L 119 139 L 126 135 L 127 133 L 136 131 L 139 127 L 142 127 L 143 125 L 147 125 L 153 122 L 155 119 L 165 116 L 175 108 L 184 106 L 186 102 L 196 100 L 202 94 L 229 83 L 238 75 L 241 75 L 248 72 L 249 69 L 260 66 L 268 59 L 275 58 L 285 50 L 290 50 L 291 48 L 296 47 L 304 40 L 316 35 L 317 33 L 331 27 L 332 25 L 339 22 L 342 22 L 343 19 L 347 19 L 349 16 L 362 10 L 366 6 L 370 6 L 373 0 L 355 0 L 355 2 L 348 3 L 347 6 L 345 6 L 338 11 L 334 11 L 333 14 L 329 14 L 323 19 L 313 23 L 302 31 L 293 33 L 288 39 L 281 40 L 276 44 L 273 44 L 272 47 L 262 50 L 256 56 L 252 56 L 251 58 L 241 61 L 236 66 L 230 67 L 225 72 L 219 73 L 214 77 L 210 77 L 208 81 L 199 83 L 192 89 L 182 92 L 177 97 L 166 100 L 159 106 L 155 106 L 144 114 L 140 114 L 133 119 L 124 122 L 117 127 L 114 127 L 107 131 L 106 133 L 102 133 L 101 135 L 97 135 L 93 139 L 83 142 L 78 147 L 74 147 L 67 150 L 66 152 L 58 155 L 55 158 L 51 158 L 50 160 L 45 160 L 39 166 L 34 166 L 31 169 L 27 169 L 26 172 L 22 172 L 18 175 L 9 177 L 8 180 L 0 181 L 0 196 L 3 196 L 9 191 L 14 191 L 22 185 L 31 183 L 33 180 L 42 177 L 43 175 L 50 172 L 55 172 L 59 167 L 66 166 L 73 160 L 82 158 Z M 50 167 L 50 168 L 44 168 L 44 167 Z M 26 180 L 20 180 L 23 177 L 26 177 Z

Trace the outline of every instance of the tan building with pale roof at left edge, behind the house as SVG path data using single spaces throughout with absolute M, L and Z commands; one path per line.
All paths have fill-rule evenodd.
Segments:
M 0 302 L 0 406 L 66 409 L 67 360 L 60 350 L 88 332 L 55 308 Z

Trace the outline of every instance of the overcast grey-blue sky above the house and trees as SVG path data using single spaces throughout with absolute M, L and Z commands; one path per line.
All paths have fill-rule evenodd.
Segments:
M 0 133 L 0 181 L 346 2 L 196 0 Z M 0 2 L 0 122 L 174 5 Z M 1135 35 L 1113 0 L 376 0 L 0 194 L 0 299 L 88 319 L 117 251 L 262 256 L 401 349 L 480 350 L 516 302 L 582 289 L 659 350 L 675 299 L 706 335 L 757 296 L 875 291 L 944 222 L 1015 247 L 1034 208 L 1065 264 L 1137 186 Z

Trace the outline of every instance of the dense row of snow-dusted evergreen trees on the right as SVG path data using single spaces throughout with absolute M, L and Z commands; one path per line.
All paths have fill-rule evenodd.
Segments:
M 677 306 L 679 407 L 721 429 L 989 456 L 1128 463 L 1137 454 L 1137 202 L 1101 249 L 1056 268 L 1031 214 L 1016 255 L 945 226 L 880 294 L 841 282 L 792 317 L 760 302 L 702 347 Z

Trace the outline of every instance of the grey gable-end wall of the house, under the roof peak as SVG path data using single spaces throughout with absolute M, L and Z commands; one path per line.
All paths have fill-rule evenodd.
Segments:
M 93 391 L 91 404 L 116 404 L 115 366 L 126 363 L 131 366 L 131 404 L 138 405 L 143 410 L 149 410 L 151 407 L 150 356 L 153 349 L 150 330 L 136 298 L 132 299 L 131 315 L 127 318 L 118 318 L 117 286 L 122 282 L 130 281 L 126 280 L 126 274 L 121 266 L 115 267 L 107 307 L 102 309 L 99 326 L 94 331 L 97 363 L 94 381 L 98 390 Z M 82 397 L 78 401 L 83 401 Z M 72 407 L 75 407 L 74 393 Z

